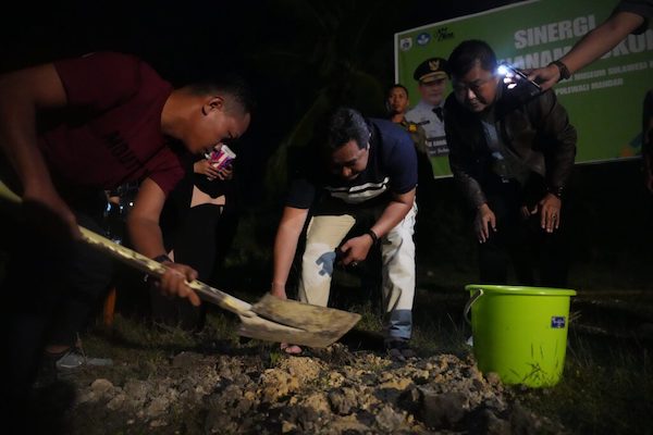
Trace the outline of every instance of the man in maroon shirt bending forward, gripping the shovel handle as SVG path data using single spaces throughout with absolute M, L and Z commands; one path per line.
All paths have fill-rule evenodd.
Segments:
M 98 52 L 0 77 L 0 178 L 24 203 L 2 285 L 1 362 L 9 364 L 3 374 L 12 387 L 30 381 L 56 310 L 57 291 L 44 287 L 54 288 L 65 273 L 86 273 L 94 282 L 106 276 L 73 241 L 77 224 L 87 221 L 77 206 L 95 192 L 140 181 L 127 221 L 131 241 L 168 266 L 159 283 L 164 294 L 199 304 L 185 284 L 196 271 L 165 257 L 159 214 L 184 175 L 184 154 L 238 138 L 250 110 L 249 90 L 237 78 L 173 89 L 148 64 L 122 53 Z M 69 257 L 73 269 L 60 271 L 70 266 Z M 39 271 L 26 265 L 35 258 Z

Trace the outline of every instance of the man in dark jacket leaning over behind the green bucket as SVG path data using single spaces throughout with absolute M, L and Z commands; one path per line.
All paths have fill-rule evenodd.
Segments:
M 512 257 L 517 281 L 534 285 L 530 260 L 537 254 L 541 285 L 564 286 L 567 266 L 557 233 L 576 156 L 567 112 L 552 90 L 520 98 L 528 84 L 508 86 L 483 41 L 461 42 L 448 65 L 449 163 L 476 213 L 481 281 L 506 284 Z

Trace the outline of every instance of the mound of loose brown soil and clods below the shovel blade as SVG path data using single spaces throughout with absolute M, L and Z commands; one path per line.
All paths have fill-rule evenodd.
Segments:
M 182 352 L 145 380 L 69 377 L 73 433 L 560 433 L 453 355 L 393 361 L 334 345 L 310 357 Z

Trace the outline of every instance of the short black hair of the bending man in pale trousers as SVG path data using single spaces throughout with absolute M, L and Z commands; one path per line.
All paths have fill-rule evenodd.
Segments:
M 366 148 L 370 139 L 370 128 L 365 117 L 355 109 L 337 108 L 328 117 L 325 147 L 335 151 L 349 140 L 355 140 L 359 149 Z

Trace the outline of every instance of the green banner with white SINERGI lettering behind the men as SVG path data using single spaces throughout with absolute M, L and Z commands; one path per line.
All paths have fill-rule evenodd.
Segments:
M 412 72 L 448 58 L 463 40 L 485 40 L 500 61 L 533 69 L 560 58 L 605 21 L 615 0 L 534 0 L 395 34 L 395 78 L 419 101 Z M 653 29 L 630 35 L 603 58 L 555 86 L 578 130 L 577 163 L 628 159 L 641 150 L 642 104 L 653 88 Z M 448 84 L 447 94 L 451 91 Z M 446 150 L 445 150 L 446 151 Z M 435 177 L 451 176 L 446 154 L 431 157 Z

